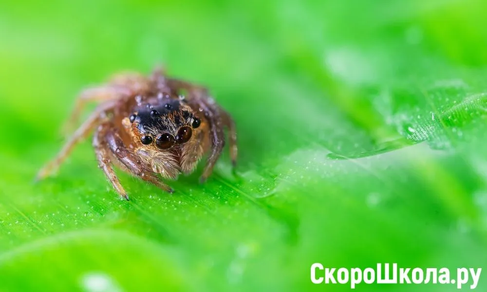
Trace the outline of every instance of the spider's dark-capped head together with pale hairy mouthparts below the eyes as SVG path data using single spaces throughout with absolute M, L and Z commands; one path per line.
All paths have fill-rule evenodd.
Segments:
M 152 170 L 175 179 L 179 172 L 193 171 L 206 152 L 208 126 L 206 122 L 202 125 L 184 99 L 158 95 L 137 104 L 123 124 L 135 142 L 135 152 L 150 158 L 146 163 Z

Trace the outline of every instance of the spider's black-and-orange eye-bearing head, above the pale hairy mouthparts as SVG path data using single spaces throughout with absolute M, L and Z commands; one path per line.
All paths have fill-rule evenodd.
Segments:
M 137 107 L 126 122 L 131 124 L 137 144 L 158 150 L 186 144 L 201 124 L 188 105 L 171 98 Z

